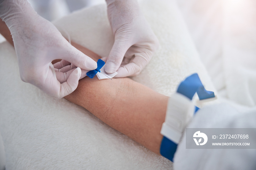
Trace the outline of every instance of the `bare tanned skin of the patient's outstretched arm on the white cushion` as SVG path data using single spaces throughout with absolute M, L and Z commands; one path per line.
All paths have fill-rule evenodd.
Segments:
M 3 34 L 6 31 L 1 29 L 0 33 L 11 43 L 10 34 Z M 85 47 L 72 45 L 95 61 L 101 58 Z M 65 98 L 160 155 L 163 138 L 160 131 L 165 121 L 167 96 L 129 78 L 98 80 L 95 76 L 81 79 L 78 88 Z

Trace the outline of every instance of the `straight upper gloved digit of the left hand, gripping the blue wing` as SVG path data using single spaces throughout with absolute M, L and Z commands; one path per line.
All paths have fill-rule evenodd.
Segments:
M 65 51 L 65 55 L 61 58 L 84 70 L 97 69 L 97 63 L 93 59 L 71 45 L 68 46 L 67 51 Z

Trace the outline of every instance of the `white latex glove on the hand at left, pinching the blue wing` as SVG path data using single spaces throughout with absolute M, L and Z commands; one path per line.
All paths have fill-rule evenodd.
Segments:
M 50 96 L 62 98 L 72 93 L 78 86 L 81 69 L 97 68 L 93 59 L 71 46 L 27 0 L 0 0 L 0 17 L 12 34 L 20 78 Z M 78 66 L 62 84 L 57 80 L 51 63 L 54 59 L 65 59 Z

